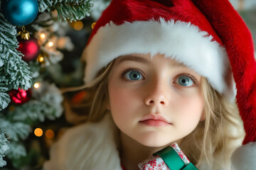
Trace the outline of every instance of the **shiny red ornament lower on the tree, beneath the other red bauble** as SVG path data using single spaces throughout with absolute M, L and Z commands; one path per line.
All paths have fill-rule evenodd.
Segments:
M 11 101 L 16 104 L 23 104 L 29 101 L 32 97 L 31 89 L 23 90 L 18 88 L 18 90 L 9 91 L 9 96 L 11 97 Z

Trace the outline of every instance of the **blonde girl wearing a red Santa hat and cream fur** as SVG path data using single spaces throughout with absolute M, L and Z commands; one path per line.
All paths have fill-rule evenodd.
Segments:
M 152 154 L 176 144 L 198 169 L 255 168 L 253 44 L 228 0 L 113 0 L 84 57 L 89 118 L 52 147 L 45 169 L 156 169 Z M 254 143 L 233 154 L 242 140 Z

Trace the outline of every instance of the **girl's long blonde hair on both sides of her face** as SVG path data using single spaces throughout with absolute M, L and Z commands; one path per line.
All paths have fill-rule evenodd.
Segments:
M 99 72 L 92 86 L 92 100 L 88 121 L 101 120 L 107 111 L 107 83 L 117 62 L 110 62 Z M 235 103 L 228 102 L 202 77 L 202 93 L 205 101 L 205 120 L 191 134 L 184 137 L 181 149 L 199 169 L 230 169 L 230 157 L 241 145 L 245 132 Z

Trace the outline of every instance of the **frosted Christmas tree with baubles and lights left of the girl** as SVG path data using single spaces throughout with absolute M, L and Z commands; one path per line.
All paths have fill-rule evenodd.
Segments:
M 60 88 L 82 84 L 79 57 L 89 23 L 108 3 L 0 0 L 0 167 L 41 169 L 47 156 L 43 151 L 56 130 L 53 124 L 63 122 Z M 70 36 L 84 40 L 75 44 Z

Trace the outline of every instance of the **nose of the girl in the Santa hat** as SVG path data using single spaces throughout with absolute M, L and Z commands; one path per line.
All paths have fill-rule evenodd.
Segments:
M 167 106 L 169 103 L 168 88 L 169 86 L 164 81 L 158 80 L 149 83 L 148 88 L 146 88 L 146 98 L 144 103 L 147 106 Z

